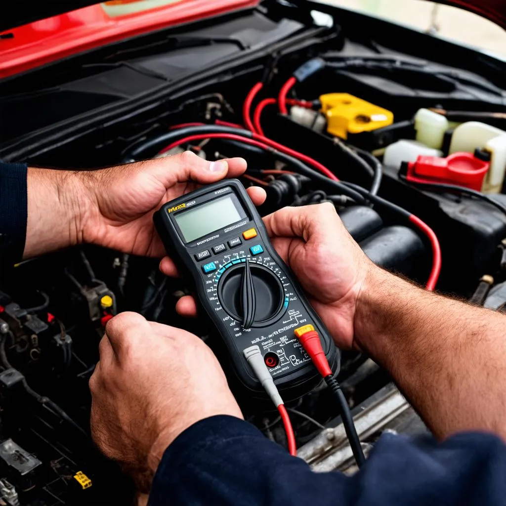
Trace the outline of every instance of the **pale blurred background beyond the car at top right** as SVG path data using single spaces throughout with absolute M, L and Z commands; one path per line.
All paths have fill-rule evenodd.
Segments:
M 476 14 L 426 0 L 320 0 L 506 58 L 506 31 Z

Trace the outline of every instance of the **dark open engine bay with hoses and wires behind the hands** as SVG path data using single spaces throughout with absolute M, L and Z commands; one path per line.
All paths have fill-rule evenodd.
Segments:
M 504 311 L 505 70 L 362 14 L 264 2 L 1 81 L 0 158 L 93 170 L 185 150 L 241 156 L 243 185 L 267 192 L 261 216 L 331 202 L 377 265 Z M 0 504 L 133 503 L 89 429 L 88 381 L 118 312 L 195 333 L 227 371 L 208 322 L 175 311 L 191 285 L 158 263 L 84 245 L 2 272 Z M 427 431 L 364 354 L 343 351 L 338 379 L 366 450 L 386 429 Z M 277 411 L 230 387 L 245 419 L 286 446 Z M 324 384 L 287 408 L 299 456 L 353 471 Z

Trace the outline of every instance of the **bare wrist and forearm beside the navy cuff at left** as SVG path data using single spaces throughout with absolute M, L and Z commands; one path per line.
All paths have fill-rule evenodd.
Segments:
M 23 258 L 81 242 L 88 219 L 88 173 L 28 168 L 28 221 Z

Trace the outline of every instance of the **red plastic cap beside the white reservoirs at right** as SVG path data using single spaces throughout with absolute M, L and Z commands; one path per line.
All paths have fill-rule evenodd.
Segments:
M 420 155 L 407 165 L 406 179 L 413 183 L 444 183 L 481 191 L 490 162 L 472 153 L 453 153 L 446 158 Z

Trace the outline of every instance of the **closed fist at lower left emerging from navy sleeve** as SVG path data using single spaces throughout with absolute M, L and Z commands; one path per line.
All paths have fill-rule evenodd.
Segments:
M 196 421 L 242 418 L 220 364 L 197 336 L 136 313 L 107 324 L 90 388 L 93 438 L 141 491 L 166 447 Z

